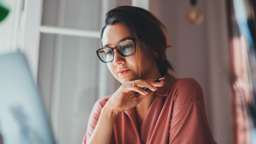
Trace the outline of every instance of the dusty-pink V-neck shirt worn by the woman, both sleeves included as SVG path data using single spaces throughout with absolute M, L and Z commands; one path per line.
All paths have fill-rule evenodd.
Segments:
M 208 123 L 204 94 L 193 78 L 177 79 L 165 74 L 138 132 L 134 108 L 119 113 L 110 144 L 216 144 Z M 89 117 L 86 144 L 111 97 L 99 99 Z

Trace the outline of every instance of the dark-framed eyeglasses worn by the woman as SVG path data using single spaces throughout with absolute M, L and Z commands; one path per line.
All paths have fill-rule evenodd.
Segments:
M 136 51 L 135 38 L 121 41 L 114 48 L 100 48 L 95 52 L 103 63 L 108 63 L 114 59 L 114 50 L 123 57 L 134 54 Z

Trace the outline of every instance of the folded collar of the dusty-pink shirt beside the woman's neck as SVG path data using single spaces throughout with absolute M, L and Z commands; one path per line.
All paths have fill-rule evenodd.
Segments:
M 167 96 L 172 89 L 172 86 L 175 84 L 175 82 L 178 80 L 176 77 L 171 75 L 171 73 L 167 72 L 165 75 L 165 84 L 162 87 L 158 87 L 158 90 L 156 91 L 155 95 L 159 96 Z

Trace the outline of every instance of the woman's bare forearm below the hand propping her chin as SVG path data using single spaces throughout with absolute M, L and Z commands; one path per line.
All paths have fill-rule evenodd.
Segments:
M 97 125 L 88 144 L 109 144 L 117 112 L 112 111 L 107 104 L 102 108 Z

